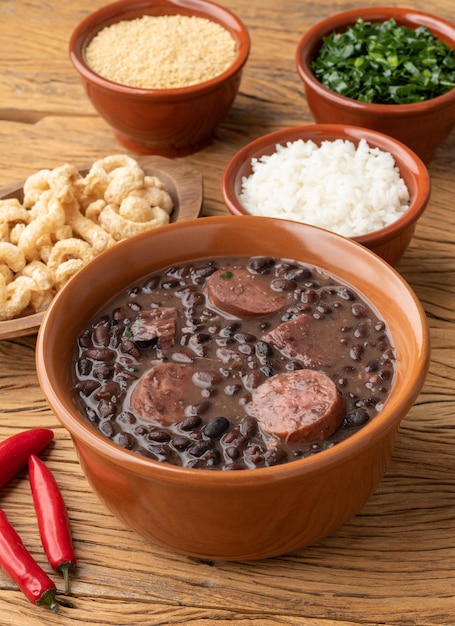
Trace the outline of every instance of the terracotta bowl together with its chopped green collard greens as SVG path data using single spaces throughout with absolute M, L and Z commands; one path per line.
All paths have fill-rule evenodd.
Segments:
M 316 122 L 372 128 L 428 163 L 455 125 L 455 24 L 369 7 L 328 17 L 302 36 L 297 71 Z

